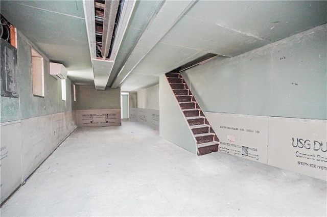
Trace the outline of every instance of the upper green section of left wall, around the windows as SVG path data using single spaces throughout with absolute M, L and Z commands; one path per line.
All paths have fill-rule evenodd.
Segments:
M 32 94 L 31 46 L 44 58 L 44 97 Z M 66 101 L 61 99 L 61 81 L 49 74 L 49 59 L 17 31 L 19 98 L 1 97 L 1 122 L 72 111 L 72 84 L 66 79 Z

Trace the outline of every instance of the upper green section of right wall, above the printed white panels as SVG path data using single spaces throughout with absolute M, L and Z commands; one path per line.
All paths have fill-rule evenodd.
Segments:
M 204 111 L 327 119 L 327 24 L 182 73 Z

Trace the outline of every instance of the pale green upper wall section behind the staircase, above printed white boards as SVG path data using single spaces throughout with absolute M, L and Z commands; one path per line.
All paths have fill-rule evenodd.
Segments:
M 159 85 L 138 91 L 137 107 L 159 110 Z

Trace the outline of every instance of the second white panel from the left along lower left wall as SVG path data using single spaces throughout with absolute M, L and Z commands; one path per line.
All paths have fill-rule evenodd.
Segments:
M 50 155 L 51 116 L 21 120 L 22 180 L 25 180 Z

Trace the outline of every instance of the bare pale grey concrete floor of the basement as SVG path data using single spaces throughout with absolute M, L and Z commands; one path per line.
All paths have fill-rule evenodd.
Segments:
M 326 182 L 224 153 L 195 156 L 137 122 L 76 129 L 1 216 L 325 216 Z

